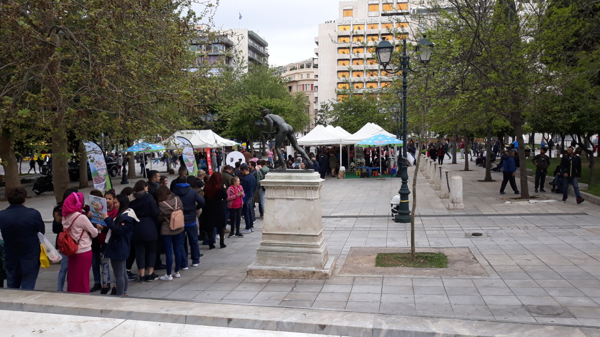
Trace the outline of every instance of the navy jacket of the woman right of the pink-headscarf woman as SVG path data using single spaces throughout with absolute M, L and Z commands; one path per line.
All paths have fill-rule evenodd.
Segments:
M 110 216 L 104 219 L 107 227 L 110 229 L 109 243 L 104 250 L 104 257 L 112 258 L 113 260 L 123 261 L 129 257 L 131 249 L 131 235 L 133 234 L 133 226 L 136 223 L 134 218 L 127 214 L 119 216 L 113 221 Z

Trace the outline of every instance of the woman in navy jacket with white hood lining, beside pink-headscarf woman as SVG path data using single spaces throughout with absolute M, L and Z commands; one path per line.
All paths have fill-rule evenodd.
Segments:
M 125 270 L 125 261 L 129 256 L 133 227 L 138 220 L 135 212 L 129 208 L 129 198 L 125 195 L 119 195 L 115 198 L 113 209 L 118 209 L 115 219 L 103 214 L 104 222 L 110 230 L 110 236 L 107 234 L 108 242 L 106 248 L 104 248 L 103 256 L 104 258 L 110 258 L 110 264 L 113 267 L 116 284 L 115 294 L 127 296 L 129 280 Z

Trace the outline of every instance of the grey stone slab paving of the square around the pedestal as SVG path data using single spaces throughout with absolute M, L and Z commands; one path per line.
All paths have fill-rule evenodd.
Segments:
M 449 167 L 453 174 L 464 177 L 465 209 L 446 210 L 443 201 L 448 199 L 440 199 L 419 174 L 417 213 L 480 216 L 418 217 L 416 246 L 467 246 L 489 277 L 339 275 L 339 267 L 351 247 L 410 246 L 410 224 L 396 224 L 391 218 L 341 218 L 389 213 L 389 199 L 397 194 L 400 179 L 328 177 L 323 186 L 323 215 L 340 216 L 323 219 L 329 254 L 338 256 L 338 268 L 331 279 L 246 278 L 245 268 L 254 261 L 259 245 L 259 220 L 257 231 L 243 238 L 226 239 L 225 249 L 209 251 L 208 246 L 201 246 L 205 254 L 202 264 L 183 270 L 181 278 L 171 282 L 130 282 L 129 294 L 200 302 L 600 326 L 600 207 L 590 203 L 577 205 L 572 198 L 568 203 L 503 204 L 497 192 L 499 174 L 493 175 L 497 182 L 484 183 L 477 181 L 484 176 L 478 167 L 470 172 L 458 171 L 462 165 Z M 552 197 L 555 196 L 560 197 Z M 572 215 L 582 212 L 587 215 Z M 486 213 L 505 216 L 481 216 Z M 547 215 L 527 216 L 533 213 Z M 47 230 L 50 231 L 50 224 Z M 484 236 L 470 237 L 474 231 Z M 37 288 L 55 290 L 57 271 L 58 266 L 54 265 L 42 270 Z

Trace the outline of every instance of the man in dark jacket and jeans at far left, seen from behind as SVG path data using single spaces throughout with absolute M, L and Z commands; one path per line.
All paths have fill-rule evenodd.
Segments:
M 40 272 L 41 249 L 37 233 L 44 234 L 46 227 L 40 212 L 25 207 L 25 189 L 8 189 L 6 198 L 10 206 L 0 211 L 0 233 L 4 239 L 7 286 L 33 290 Z M 86 287 L 89 290 L 89 283 Z

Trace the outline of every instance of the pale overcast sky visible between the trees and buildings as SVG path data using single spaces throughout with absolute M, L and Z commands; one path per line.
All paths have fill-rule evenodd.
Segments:
M 337 0 L 221 0 L 214 23 L 256 32 L 269 43 L 269 64 L 285 65 L 316 57 L 319 23 L 336 20 L 337 8 Z

